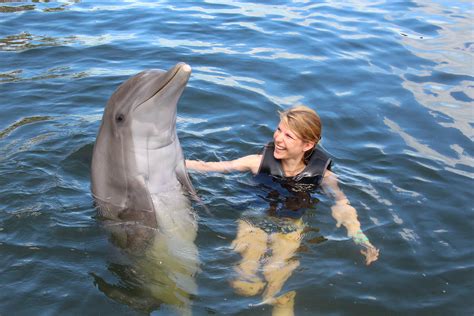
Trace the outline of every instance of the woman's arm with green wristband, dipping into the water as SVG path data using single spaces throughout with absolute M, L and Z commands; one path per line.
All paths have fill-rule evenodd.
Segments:
M 357 211 L 349 204 L 346 195 L 339 189 L 337 176 L 329 170 L 326 171 L 322 185 L 324 191 L 335 200 L 331 211 L 332 216 L 337 221 L 336 226 L 340 227 L 341 224 L 344 225 L 347 229 L 347 236 L 351 237 L 357 245 L 364 247 L 361 253 L 365 256 L 365 263 L 367 265 L 377 260 L 379 250 L 370 243 L 367 236 L 360 229 Z

